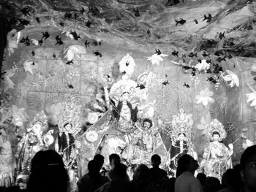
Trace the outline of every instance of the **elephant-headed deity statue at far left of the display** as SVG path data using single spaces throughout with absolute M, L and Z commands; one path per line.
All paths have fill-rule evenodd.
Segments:
M 31 159 L 39 150 L 45 147 L 42 134 L 47 128 L 48 118 L 45 112 L 40 112 L 35 115 L 34 120 L 29 123 L 25 137 L 22 137 L 18 142 L 17 175 L 29 174 Z

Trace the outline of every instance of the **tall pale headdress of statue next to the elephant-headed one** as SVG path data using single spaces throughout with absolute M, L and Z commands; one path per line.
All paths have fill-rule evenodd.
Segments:
M 59 130 L 64 132 L 64 126 L 70 124 L 70 134 L 75 134 L 80 129 L 80 108 L 78 104 L 78 96 L 70 96 L 67 102 L 63 102 L 63 108 L 59 115 Z

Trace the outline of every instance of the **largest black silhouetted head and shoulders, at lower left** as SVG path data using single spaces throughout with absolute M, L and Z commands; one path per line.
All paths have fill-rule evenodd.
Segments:
M 36 154 L 37 155 L 37 154 Z M 37 158 L 38 156 L 34 156 Z M 54 150 L 39 153 L 39 158 L 32 159 L 29 177 L 29 192 L 67 192 L 69 191 L 69 175 L 61 156 Z

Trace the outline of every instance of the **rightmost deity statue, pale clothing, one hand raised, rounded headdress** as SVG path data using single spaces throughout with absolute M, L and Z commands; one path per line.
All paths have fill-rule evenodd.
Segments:
M 206 133 L 211 142 L 205 148 L 203 160 L 200 168 L 203 169 L 207 177 L 217 177 L 222 179 L 222 174 L 232 168 L 231 155 L 233 154 L 233 144 L 227 148 L 221 141 L 227 136 L 222 123 L 214 119 L 206 128 Z

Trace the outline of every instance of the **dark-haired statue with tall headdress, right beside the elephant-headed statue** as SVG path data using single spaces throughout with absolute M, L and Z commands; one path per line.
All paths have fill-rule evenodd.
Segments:
M 69 173 L 71 188 L 74 189 L 78 181 L 77 156 L 79 142 L 76 135 L 81 129 L 80 124 L 80 96 L 72 93 L 67 102 L 62 103 L 59 114 L 59 135 L 55 141 L 55 150 L 63 158 L 64 165 Z

